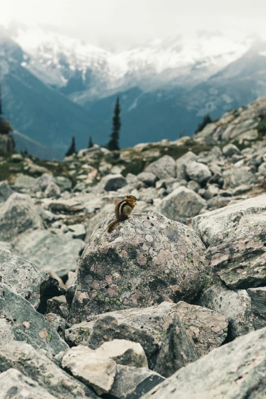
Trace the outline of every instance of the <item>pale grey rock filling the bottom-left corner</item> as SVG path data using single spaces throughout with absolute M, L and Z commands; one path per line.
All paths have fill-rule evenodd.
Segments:
M 1 399 L 56 399 L 31 378 L 23 376 L 15 368 L 0 374 Z

